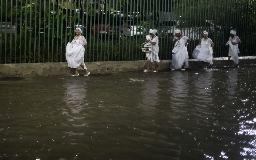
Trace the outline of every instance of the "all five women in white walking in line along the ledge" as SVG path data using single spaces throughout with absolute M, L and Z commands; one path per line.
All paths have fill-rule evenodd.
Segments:
M 150 63 L 154 62 L 155 69 L 153 72 L 158 72 L 158 64 L 160 62 L 158 52 L 158 36 L 156 36 L 157 31 L 155 29 L 149 30 L 150 36 L 145 40 L 145 43 L 150 45 L 150 51 L 146 52 L 147 57 L 147 69 L 143 72 L 150 71 Z M 66 60 L 68 63 L 68 67 L 75 68 L 75 74 L 72 76 L 79 76 L 78 69 L 84 70 L 84 76 L 88 76 L 90 72 L 87 70 L 84 63 L 84 46 L 87 45 L 86 39 L 81 35 L 82 30 L 80 28 L 76 28 L 76 36 L 72 40 L 72 42 L 67 44 L 66 47 Z M 212 63 L 212 48 L 214 47 L 214 43 L 210 38 L 208 38 L 208 32 L 203 32 L 203 38 L 200 40 L 198 46 L 193 51 L 192 56 L 199 61 L 202 61 L 204 64 L 204 68 L 209 67 Z M 147 36 L 146 36 L 147 37 Z M 175 31 L 175 37 L 173 38 L 174 47 L 172 50 L 172 62 L 170 69 L 173 70 L 182 70 L 188 68 L 188 51 L 187 46 L 191 40 L 187 36 L 183 36 L 181 31 L 177 29 Z M 232 58 L 238 66 L 238 54 L 239 48 L 238 44 L 241 44 L 240 39 L 236 36 L 236 32 L 231 30 L 230 37 L 226 45 L 229 45 L 228 52 L 228 61 L 227 65 L 230 62 L 230 58 Z

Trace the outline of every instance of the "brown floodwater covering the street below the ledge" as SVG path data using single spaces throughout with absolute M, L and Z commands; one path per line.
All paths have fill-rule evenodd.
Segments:
M 256 66 L 0 78 L 0 159 L 256 159 Z

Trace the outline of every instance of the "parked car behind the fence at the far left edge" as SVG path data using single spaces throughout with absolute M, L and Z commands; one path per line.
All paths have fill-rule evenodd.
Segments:
M 15 33 L 15 29 L 17 28 L 17 32 L 20 32 L 20 23 L 15 24 L 14 22 L 11 22 L 11 20 L 7 17 L 7 23 L 6 18 L 2 17 L 2 24 L 0 21 L 0 29 L 2 27 L 2 31 L 0 30 L 0 33 L 6 33 L 6 34 L 13 34 Z M 6 32 L 5 32 L 6 30 Z

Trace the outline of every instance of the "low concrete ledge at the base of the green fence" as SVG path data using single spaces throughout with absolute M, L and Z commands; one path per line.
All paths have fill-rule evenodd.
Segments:
M 225 65 L 227 57 L 213 58 L 213 65 Z M 113 61 L 113 62 L 87 62 L 86 67 L 92 74 L 120 73 L 144 70 L 145 60 L 140 61 Z M 169 69 L 171 60 L 161 60 L 159 70 Z M 256 56 L 239 57 L 239 65 L 256 64 Z M 154 65 L 152 64 L 151 67 Z M 189 68 L 202 68 L 203 64 L 195 59 L 189 59 Z M 73 69 L 67 63 L 21 63 L 0 64 L 0 77 L 32 77 L 32 76 L 57 76 L 71 75 Z M 79 71 L 83 74 L 83 71 Z

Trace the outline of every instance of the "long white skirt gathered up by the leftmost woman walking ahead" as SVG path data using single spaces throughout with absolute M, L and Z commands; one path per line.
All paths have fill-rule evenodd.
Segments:
M 84 69 L 87 69 L 84 63 L 84 51 L 84 46 L 79 45 L 76 47 L 72 47 L 71 43 L 68 42 L 66 47 L 66 60 L 68 63 L 68 67 L 83 70 L 80 65 L 84 65 Z

